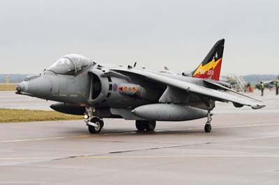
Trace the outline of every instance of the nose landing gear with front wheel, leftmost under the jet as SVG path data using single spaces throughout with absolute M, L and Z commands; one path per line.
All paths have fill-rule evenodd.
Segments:
M 104 127 L 104 122 L 103 119 L 94 116 L 93 112 L 93 107 L 86 107 L 84 122 L 86 122 L 90 134 L 99 134 Z

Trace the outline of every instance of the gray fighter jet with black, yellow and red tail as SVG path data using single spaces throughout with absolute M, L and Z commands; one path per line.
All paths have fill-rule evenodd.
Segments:
M 100 133 L 103 118 L 135 120 L 139 131 L 153 131 L 158 121 L 207 118 L 211 131 L 215 102 L 236 107 L 262 108 L 261 102 L 218 83 L 225 40 L 219 40 L 202 63 L 189 74 L 174 74 L 167 67 L 152 72 L 135 65 L 102 65 L 70 54 L 59 58 L 43 74 L 28 76 L 17 94 L 49 99 L 62 113 L 84 115 L 91 134 Z

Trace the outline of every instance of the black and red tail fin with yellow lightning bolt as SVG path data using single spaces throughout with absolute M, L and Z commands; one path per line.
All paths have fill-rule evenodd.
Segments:
M 225 39 L 218 40 L 206 55 L 202 63 L 192 72 L 192 77 L 200 79 L 213 79 L 218 81 L 220 78 Z

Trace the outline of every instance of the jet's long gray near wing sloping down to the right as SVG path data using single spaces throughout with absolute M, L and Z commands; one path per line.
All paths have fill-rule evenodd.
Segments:
M 233 102 L 235 104 L 241 104 L 245 106 L 251 106 L 253 109 L 263 108 L 264 105 L 259 101 L 248 99 L 247 97 L 237 97 L 235 95 L 230 95 L 229 93 L 220 92 L 211 88 L 206 88 L 204 86 L 198 86 L 194 83 L 189 83 L 186 81 L 181 81 L 178 79 L 172 79 L 170 77 L 157 74 L 155 72 L 150 72 L 148 70 L 143 70 L 140 68 L 130 67 L 128 69 L 116 68 L 112 69 L 117 72 L 128 72 L 132 74 L 137 74 L 147 79 L 157 81 L 159 83 L 165 83 L 167 86 L 172 86 L 179 88 L 181 90 L 186 90 L 187 92 L 196 93 L 198 95 L 204 95 L 204 97 L 211 97 L 211 99 L 221 101 L 221 102 Z

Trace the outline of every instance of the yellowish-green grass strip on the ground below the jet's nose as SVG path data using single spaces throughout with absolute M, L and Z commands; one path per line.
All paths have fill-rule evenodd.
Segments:
M 0 108 L 0 122 L 35 122 L 54 120 L 81 120 L 82 115 L 68 115 L 55 111 L 32 111 Z

